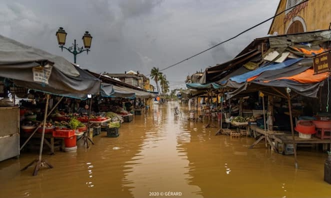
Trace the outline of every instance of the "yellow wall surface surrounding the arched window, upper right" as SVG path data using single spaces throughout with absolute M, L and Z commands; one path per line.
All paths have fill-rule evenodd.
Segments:
M 280 0 L 276 13 L 285 10 L 286 1 Z M 306 31 L 328 29 L 331 22 L 331 0 L 309 0 L 302 4 L 300 9 L 298 8 L 297 6 L 296 10 L 293 8 L 290 13 L 287 13 L 286 18 L 285 13 L 275 17 L 268 33 L 278 32 L 278 34 L 286 34 L 290 24 L 299 17 L 303 19 Z

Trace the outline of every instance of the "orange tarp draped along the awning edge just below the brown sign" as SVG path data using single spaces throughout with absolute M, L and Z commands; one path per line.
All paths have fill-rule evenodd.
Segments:
M 297 81 L 300 83 L 315 83 L 315 82 L 320 82 L 326 79 L 329 76 L 329 72 L 323 72 L 319 74 L 313 74 L 314 71 L 313 69 L 309 68 L 301 73 L 298 73 L 296 75 L 288 76 L 288 77 L 279 77 L 277 79 L 288 79 L 288 80 L 293 80 Z M 277 80 L 275 79 L 275 80 Z M 265 81 L 267 82 L 267 81 Z

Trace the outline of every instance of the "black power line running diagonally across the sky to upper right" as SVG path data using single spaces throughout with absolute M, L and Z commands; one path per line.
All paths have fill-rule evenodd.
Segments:
M 292 7 L 289 7 L 289 8 L 287 8 L 287 9 L 284 9 L 283 11 L 277 13 L 276 15 L 274 15 L 274 16 L 272 16 L 272 17 L 266 19 L 266 20 L 263 20 L 262 22 L 260 22 L 260 23 L 258 23 L 258 24 L 255 24 L 254 26 L 249 27 L 248 29 L 246 29 L 246 30 L 244 30 L 244 31 L 241 31 L 240 33 L 236 34 L 235 36 L 233 36 L 233 37 L 231 37 L 231 38 L 228 38 L 227 40 L 224 40 L 224 41 L 222 41 L 222 42 L 220 42 L 220 43 L 218 43 L 218 44 L 215 44 L 215 45 L 213 45 L 213 46 L 211 46 L 211 47 L 209 47 L 209 48 L 207 48 L 207 49 L 205 49 L 205 50 L 203 50 L 203 51 L 201 51 L 201 52 L 195 53 L 194 55 L 191 55 L 191 56 L 189 56 L 188 58 L 185 58 L 185 59 L 183 59 L 183 60 L 181 60 L 181 61 L 179 61 L 179 62 L 176 62 L 176 63 L 174 63 L 174 64 L 171 64 L 170 66 L 167 66 L 167 67 L 165 67 L 165 68 L 162 68 L 162 69 L 160 69 L 159 71 L 163 71 L 163 70 L 165 70 L 165 69 L 168 69 L 168 68 L 170 68 L 170 67 L 173 67 L 173 66 L 175 66 L 175 65 L 177 65 L 177 64 L 180 64 L 180 63 L 182 63 L 182 62 L 184 62 L 184 61 L 186 61 L 186 60 L 191 59 L 192 57 L 195 57 L 195 56 L 197 56 L 197 55 L 200 55 L 201 53 L 206 52 L 206 51 L 208 51 L 208 50 L 210 50 L 210 49 L 212 49 L 212 48 L 214 48 L 214 47 L 216 47 L 216 46 L 218 46 L 218 45 L 220 45 L 220 44 L 223 44 L 224 42 L 227 42 L 227 41 L 229 41 L 229 40 L 232 40 L 232 39 L 238 37 L 239 35 L 241 35 L 241 34 L 247 32 L 247 31 L 249 31 L 250 29 L 253 29 L 253 28 L 255 28 L 255 27 L 257 27 L 257 26 L 259 26 L 259 25 L 265 23 L 266 21 L 268 21 L 268 20 L 270 20 L 270 19 L 272 19 L 272 18 L 274 18 L 274 17 L 276 17 L 276 16 L 282 14 L 283 12 L 285 12 L 285 11 L 287 11 L 287 10 L 289 10 L 289 9 L 292 9 L 292 8 L 296 7 L 297 5 L 300 5 L 300 4 L 302 4 L 302 3 L 304 3 L 304 2 L 307 2 L 307 1 L 309 1 L 309 0 L 304 0 L 304 1 L 302 1 L 302 2 L 300 2 L 300 3 L 298 3 L 298 4 L 296 4 L 296 5 L 294 5 L 294 6 L 292 6 Z M 148 75 L 150 75 L 150 74 L 148 74 Z M 147 76 L 148 76 L 148 75 L 147 75 Z

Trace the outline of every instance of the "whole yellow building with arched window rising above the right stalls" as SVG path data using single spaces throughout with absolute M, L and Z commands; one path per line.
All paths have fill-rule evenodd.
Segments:
M 331 22 L 331 0 L 279 0 L 269 34 L 290 34 L 328 29 Z

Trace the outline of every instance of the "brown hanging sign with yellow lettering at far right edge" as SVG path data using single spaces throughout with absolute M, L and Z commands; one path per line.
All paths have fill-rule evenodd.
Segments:
M 331 69 L 331 54 L 324 52 L 312 58 L 314 74 L 329 71 Z

